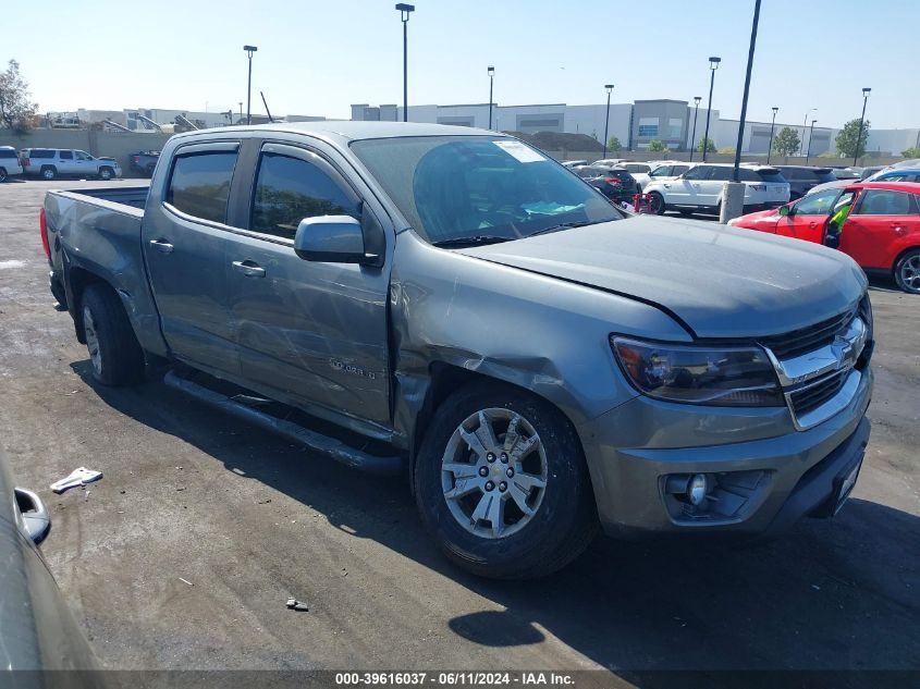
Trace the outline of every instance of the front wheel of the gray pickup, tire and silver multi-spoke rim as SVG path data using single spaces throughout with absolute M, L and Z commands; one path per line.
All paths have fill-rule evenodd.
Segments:
M 461 435 L 465 427 L 475 444 L 483 430 L 483 415 L 495 422 L 493 453 L 486 448 L 491 444 L 488 433 L 479 453 Z M 508 441 L 515 417 L 517 432 Z M 535 435 L 537 442 L 528 447 Z M 445 470 L 445 464 L 454 469 Z M 478 576 L 530 579 L 549 575 L 577 557 L 598 532 L 588 469 L 575 430 L 553 405 L 516 387 L 476 383 L 447 397 L 421 443 L 413 481 L 428 532 L 451 561 Z M 529 515 L 519 507 L 522 503 L 531 510 Z M 493 504 L 500 506 L 494 513 Z M 501 522 L 498 533 L 489 518 L 492 514 Z

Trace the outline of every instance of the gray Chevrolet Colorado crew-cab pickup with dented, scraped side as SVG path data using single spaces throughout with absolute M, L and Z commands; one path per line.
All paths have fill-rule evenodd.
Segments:
M 599 527 L 772 533 L 833 515 L 862 462 L 852 260 L 626 218 L 504 135 L 182 134 L 149 190 L 51 192 L 41 223 L 100 383 L 168 361 L 168 384 L 228 413 L 407 471 L 426 528 L 480 575 L 557 569 Z

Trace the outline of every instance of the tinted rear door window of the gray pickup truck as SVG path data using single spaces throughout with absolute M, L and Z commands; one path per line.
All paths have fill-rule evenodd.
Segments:
M 226 200 L 236 151 L 180 156 L 173 164 L 167 202 L 184 213 L 226 222 Z

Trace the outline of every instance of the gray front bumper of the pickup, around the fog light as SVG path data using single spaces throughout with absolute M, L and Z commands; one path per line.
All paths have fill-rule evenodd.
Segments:
M 612 536 L 780 531 L 827 507 L 841 476 L 862 459 L 872 372 L 851 404 L 796 430 L 786 408 L 727 409 L 639 396 L 578 428 L 598 514 Z M 665 477 L 704 473 L 725 488 L 716 508 L 694 515 Z M 832 506 L 833 507 L 833 506 Z M 826 515 L 822 515 L 826 516 Z

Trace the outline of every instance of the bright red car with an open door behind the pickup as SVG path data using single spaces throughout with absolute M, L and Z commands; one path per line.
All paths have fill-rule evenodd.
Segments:
M 775 210 L 728 224 L 817 244 L 830 244 L 827 223 L 850 204 L 837 248 L 867 273 L 892 275 L 905 292 L 920 294 L 920 183 L 862 182 L 810 194 Z

